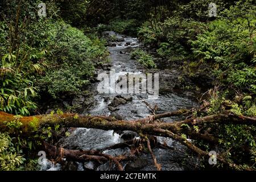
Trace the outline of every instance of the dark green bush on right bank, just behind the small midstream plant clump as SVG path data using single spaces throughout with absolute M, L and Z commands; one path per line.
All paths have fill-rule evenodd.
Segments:
M 156 24 L 145 22 L 138 35 L 143 43 L 157 47 L 160 56 L 184 59 L 191 53 L 189 40 L 195 40 L 203 27 L 203 23 L 193 19 L 174 16 Z

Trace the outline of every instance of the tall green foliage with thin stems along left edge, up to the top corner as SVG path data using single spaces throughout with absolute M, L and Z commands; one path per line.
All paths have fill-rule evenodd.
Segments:
M 2 4 L 3 3 L 3 4 Z M 47 2 L 47 18 L 39 18 L 40 1 L 3 1 L 0 18 L 0 110 L 29 115 L 36 109 L 34 77 L 46 67 L 51 20 L 56 6 Z M 5 15 L 9 19 L 3 19 Z M 29 14 L 29 20 L 27 20 Z M 55 16 L 56 17 L 56 16 Z

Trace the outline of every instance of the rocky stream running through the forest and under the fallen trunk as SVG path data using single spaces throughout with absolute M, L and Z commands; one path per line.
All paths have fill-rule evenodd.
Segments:
M 110 35 L 117 36 L 118 39 L 124 39 L 122 42 L 116 43 L 113 47 L 108 47 L 110 56 L 109 59 L 111 60 L 112 69 L 115 70 L 115 76 L 122 76 L 126 75 L 127 73 L 142 73 L 144 70 L 138 68 L 138 63 L 136 60 L 130 58 L 130 51 L 131 49 L 135 49 L 140 45 L 139 40 L 137 38 L 133 38 L 130 36 L 125 35 L 118 35 L 114 32 L 107 32 Z M 127 44 L 128 43 L 128 44 Z M 159 68 L 164 68 L 164 63 L 156 63 L 159 64 Z M 161 65 L 162 64 L 162 65 Z M 157 71 L 156 71 L 157 72 Z M 168 73 L 168 75 L 175 75 L 178 71 L 176 70 L 159 70 L 161 72 L 159 74 L 160 82 L 164 79 L 163 74 Z M 161 77 L 162 76 L 162 77 Z M 168 78 L 166 78 L 168 82 Z M 175 80 L 175 79 L 174 79 Z M 168 84 L 175 84 L 170 82 Z M 126 102 L 124 105 L 119 105 L 116 107 L 115 111 L 109 110 L 109 104 L 113 101 L 114 97 L 118 94 L 97 94 L 97 84 L 93 84 L 94 91 L 95 91 L 95 100 L 97 102 L 96 106 L 88 111 L 84 111 L 82 114 L 91 114 L 91 115 L 114 115 L 115 117 L 121 117 L 125 120 L 131 119 L 138 119 L 144 118 L 150 115 L 150 110 L 142 102 L 142 100 L 148 102 L 151 106 L 158 106 L 158 112 L 164 113 L 166 111 L 174 111 L 181 108 L 190 109 L 192 107 L 197 106 L 197 102 L 195 98 L 193 98 L 192 93 L 175 93 L 172 90 L 162 89 L 163 84 L 159 83 L 160 91 L 159 97 L 156 100 L 152 100 L 148 98 L 147 94 L 130 94 L 132 96 L 131 102 Z M 166 84 L 166 83 L 165 83 Z M 180 117 L 172 117 L 167 118 L 164 121 L 172 122 L 177 121 L 183 118 Z M 82 150 L 92 150 L 92 149 L 101 149 L 108 146 L 112 146 L 115 143 L 123 142 L 123 135 L 129 134 L 129 131 L 118 132 L 114 133 L 113 130 L 110 131 L 103 131 L 97 129 L 75 129 L 71 136 L 65 137 L 60 140 L 59 144 L 60 147 L 65 147 L 68 149 L 75 149 L 79 148 Z M 135 136 L 136 137 L 136 136 Z M 163 137 L 157 137 L 158 142 L 166 143 L 170 149 L 163 149 L 163 148 L 153 148 L 152 151 L 154 152 L 156 159 L 159 164 L 162 165 L 162 170 L 164 171 L 182 171 L 182 170 L 193 170 L 198 166 L 198 159 L 191 158 L 188 156 L 187 148 L 182 146 L 180 143 Z M 129 154 L 129 148 L 122 148 L 122 149 L 115 149 L 115 150 L 106 150 L 104 153 L 110 155 L 121 155 L 121 154 Z M 152 162 L 151 155 L 146 152 L 143 152 L 141 155 L 138 156 L 139 160 L 135 163 L 133 162 L 122 162 L 121 164 L 125 169 L 126 165 L 129 164 L 129 169 L 139 169 L 139 170 L 146 170 L 151 171 L 155 170 L 155 166 Z M 131 165 L 133 164 L 133 165 Z M 136 166 L 137 165 L 137 166 Z M 135 166 L 135 167 L 134 167 Z M 134 167 L 134 168 L 132 168 Z M 137 167 L 137 168 L 136 168 Z M 49 163 L 44 164 L 41 166 L 42 170 L 60 170 L 60 165 L 52 165 Z M 65 170 L 116 170 L 114 165 L 110 165 L 109 162 L 105 164 L 101 164 L 100 166 L 96 165 L 94 162 L 85 162 L 85 163 L 78 163 L 73 162 L 72 167 L 67 167 Z

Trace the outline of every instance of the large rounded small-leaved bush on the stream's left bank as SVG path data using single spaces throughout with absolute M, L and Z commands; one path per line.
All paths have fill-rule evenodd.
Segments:
M 104 62 L 108 56 L 104 43 L 95 37 L 89 39 L 63 22 L 52 26 L 55 27 L 49 57 L 52 60 L 38 86 L 54 98 L 61 93 L 79 93 L 93 76 L 94 65 Z

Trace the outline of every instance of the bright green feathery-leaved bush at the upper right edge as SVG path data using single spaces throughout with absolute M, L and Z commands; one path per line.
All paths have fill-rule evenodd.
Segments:
M 197 59 L 213 64 L 218 78 L 224 82 L 227 78 L 230 84 L 250 92 L 256 88 L 255 13 L 255 7 L 247 9 L 238 3 L 225 11 L 227 18 L 210 22 L 207 30 L 191 41 Z

